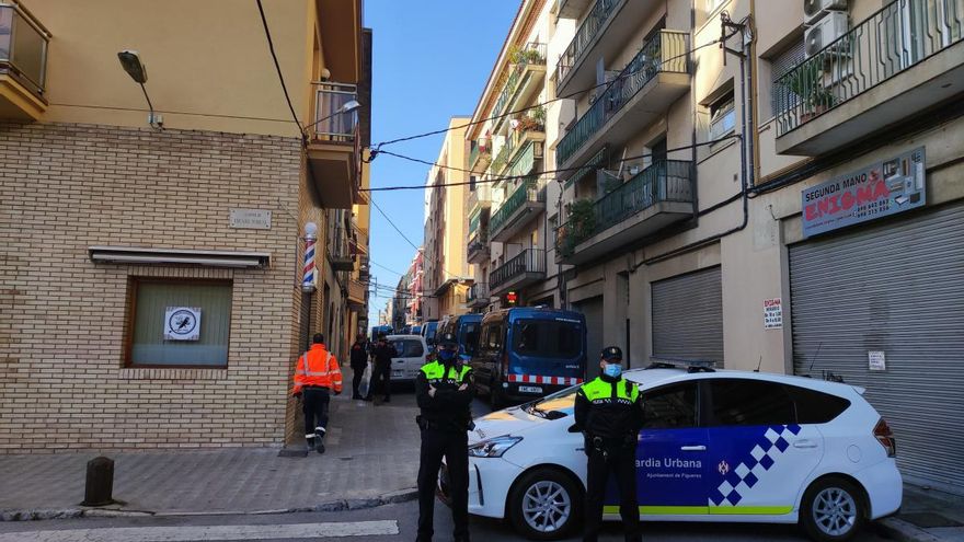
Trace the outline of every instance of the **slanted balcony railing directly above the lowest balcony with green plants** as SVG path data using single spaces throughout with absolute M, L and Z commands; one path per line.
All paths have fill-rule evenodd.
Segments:
M 556 166 L 562 168 L 657 74 L 688 73 L 688 36 L 682 32 L 662 31 L 646 42 L 559 142 L 555 149 Z

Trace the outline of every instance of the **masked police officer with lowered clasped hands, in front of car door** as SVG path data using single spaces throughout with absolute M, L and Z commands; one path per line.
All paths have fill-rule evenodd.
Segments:
M 622 350 L 602 349 L 601 374 L 583 384 L 576 393 L 575 422 L 585 437 L 586 518 L 584 542 L 596 542 L 602 522 L 602 498 L 609 475 L 619 486 L 619 515 L 626 526 L 627 542 L 640 540 L 640 510 L 636 504 L 635 449 L 643 425 L 643 403 L 635 384 L 622 378 Z

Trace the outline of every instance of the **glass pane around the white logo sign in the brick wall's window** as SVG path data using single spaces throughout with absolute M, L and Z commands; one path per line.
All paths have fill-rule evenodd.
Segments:
M 228 364 L 231 328 L 230 284 L 135 282 L 131 365 L 213 366 Z M 168 308 L 200 309 L 197 341 L 168 341 Z

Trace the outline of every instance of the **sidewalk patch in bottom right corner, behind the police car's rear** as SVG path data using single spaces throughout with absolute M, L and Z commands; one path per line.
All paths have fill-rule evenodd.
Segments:
M 904 484 L 900 514 L 875 526 L 904 542 L 964 542 L 964 497 Z

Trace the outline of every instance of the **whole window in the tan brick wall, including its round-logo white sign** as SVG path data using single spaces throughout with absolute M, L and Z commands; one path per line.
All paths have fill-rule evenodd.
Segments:
M 126 365 L 226 367 L 231 282 L 130 281 Z

